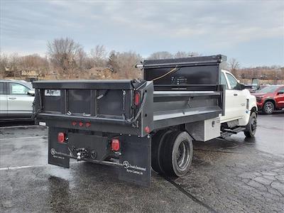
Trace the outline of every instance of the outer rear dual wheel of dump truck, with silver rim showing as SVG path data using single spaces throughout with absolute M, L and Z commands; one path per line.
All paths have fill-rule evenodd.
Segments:
M 184 176 L 190 169 L 193 146 L 186 131 L 173 131 L 163 147 L 162 167 L 165 175 Z

